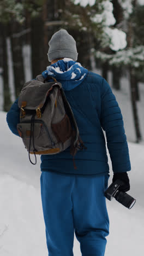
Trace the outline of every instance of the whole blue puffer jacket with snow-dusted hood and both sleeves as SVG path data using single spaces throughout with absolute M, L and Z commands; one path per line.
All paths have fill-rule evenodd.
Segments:
M 67 58 L 48 66 L 42 74 L 45 78 L 47 74 L 52 75 L 62 83 L 87 149 L 76 153 L 76 170 L 69 148 L 58 154 L 41 155 L 41 171 L 91 175 L 109 173 L 103 130 L 106 132 L 113 172 L 130 171 L 129 149 L 121 109 L 106 80 L 89 72 L 79 62 Z M 20 122 L 17 101 L 18 98 L 7 113 L 7 123 L 10 130 L 19 136 L 16 129 Z

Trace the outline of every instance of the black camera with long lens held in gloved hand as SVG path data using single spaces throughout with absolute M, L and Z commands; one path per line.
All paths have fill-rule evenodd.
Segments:
M 136 200 L 121 190 L 121 186 L 123 184 L 123 181 L 117 179 L 115 182 L 111 183 L 109 188 L 105 190 L 104 195 L 110 201 L 113 199 L 113 197 L 115 197 L 119 203 L 122 203 L 123 206 L 131 209 L 134 206 Z

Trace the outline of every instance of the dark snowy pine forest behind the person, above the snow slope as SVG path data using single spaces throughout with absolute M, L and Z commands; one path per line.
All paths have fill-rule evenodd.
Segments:
M 23 83 L 50 65 L 48 42 L 65 28 L 76 40 L 81 65 L 94 72 L 100 69 L 117 91 L 121 78 L 128 79 L 134 141 L 142 141 L 137 104 L 144 82 L 144 0 L 0 2 L 0 110 L 8 111 Z

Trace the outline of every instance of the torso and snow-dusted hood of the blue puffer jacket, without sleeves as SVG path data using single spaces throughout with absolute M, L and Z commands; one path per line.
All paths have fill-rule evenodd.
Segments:
M 58 73 L 59 70 L 61 73 Z M 45 78 L 47 74 L 62 83 L 87 150 L 81 150 L 75 155 L 76 170 L 71 161 L 70 148 L 55 155 L 41 155 L 41 170 L 49 168 L 51 171 L 76 174 L 108 173 L 105 138 L 100 125 L 103 79 L 100 75 L 88 72 L 79 62 L 67 58 L 48 66 L 47 71 L 43 72 Z

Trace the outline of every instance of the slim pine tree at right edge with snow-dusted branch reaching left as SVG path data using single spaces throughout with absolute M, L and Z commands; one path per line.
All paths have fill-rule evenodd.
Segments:
M 135 33 L 137 30 L 136 22 L 138 22 L 137 20 L 139 20 L 137 18 L 137 10 L 139 10 L 140 8 L 141 10 L 143 9 L 143 7 L 140 7 L 136 4 L 136 1 L 131 2 L 131 11 L 130 13 L 127 13 L 127 18 L 125 17 L 127 48 L 117 51 L 116 54 L 106 54 L 99 51 L 95 53 L 95 55 L 104 62 L 109 61 L 109 65 L 127 68 L 130 80 L 130 95 L 131 105 L 133 109 L 136 142 L 139 143 L 142 139 L 142 136 L 140 132 L 136 101 L 139 99 L 139 90 L 137 86 L 137 83 L 140 81 L 139 73 L 144 68 L 144 46 L 142 45 L 142 40 L 139 37 L 138 33 Z

